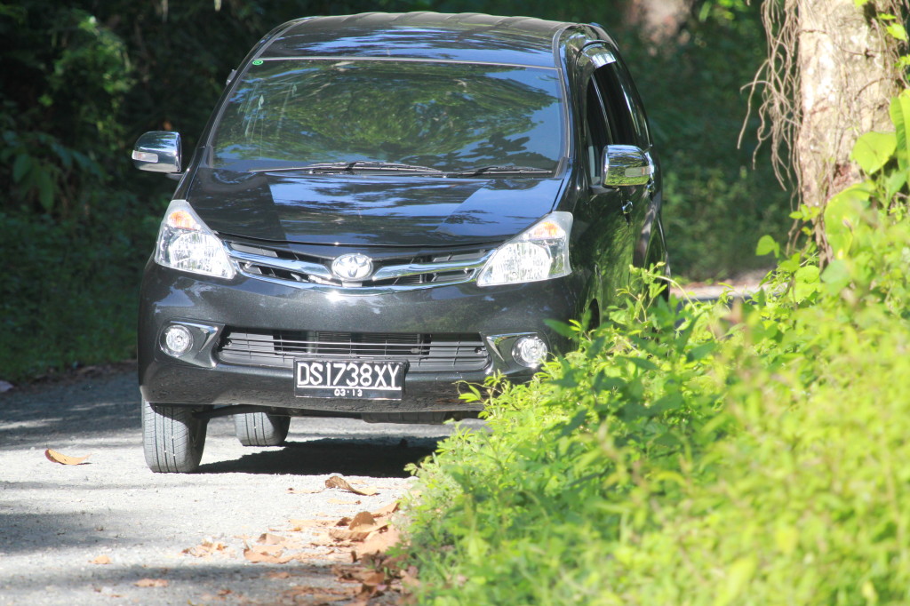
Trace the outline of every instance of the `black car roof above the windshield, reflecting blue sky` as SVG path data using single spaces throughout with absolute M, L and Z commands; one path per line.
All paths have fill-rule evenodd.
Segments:
M 369 57 L 556 65 L 554 40 L 572 24 L 477 13 L 361 13 L 281 25 L 257 56 Z

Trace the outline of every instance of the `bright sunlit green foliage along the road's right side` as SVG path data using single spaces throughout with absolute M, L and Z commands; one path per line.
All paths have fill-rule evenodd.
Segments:
M 417 470 L 421 603 L 910 601 L 905 166 L 863 146 L 875 179 L 828 203 L 824 270 L 763 237 L 778 268 L 752 299 L 627 294 L 578 351 L 495 386 L 490 432 Z

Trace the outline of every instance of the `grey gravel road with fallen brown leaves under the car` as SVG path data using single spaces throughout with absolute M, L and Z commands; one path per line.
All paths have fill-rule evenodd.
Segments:
M 344 603 L 331 567 L 350 561 L 349 549 L 312 545 L 314 530 L 289 520 L 338 520 L 397 500 L 410 486 L 404 466 L 449 431 L 292 419 L 286 445 L 245 448 L 231 418 L 212 419 L 197 474 L 155 474 L 142 454 L 135 370 L 0 394 L 0 604 Z M 48 448 L 91 457 L 60 465 Z M 326 489 L 330 475 L 379 493 Z M 305 556 L 247 561 L 245 546 L 266 532 Z M 193 548 L 203 557 L 184 552 Z M 144 580 L 167 585 L 136 585 Z

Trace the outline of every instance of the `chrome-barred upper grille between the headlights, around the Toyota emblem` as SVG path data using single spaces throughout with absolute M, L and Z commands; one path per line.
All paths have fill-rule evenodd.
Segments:
M 373 274 L 361 282 L 343 282 L 329 269 L 332 258 L 305 255 L 283 247 L 253 246 L 228 241 L 230 257 L 240 273 L 289 286 L 322 285 L 335 288 L 425 288 L 459 284 L 475 278 L 490 258 L 489 249 L 458 250 L 440 254 L 373 260 Z

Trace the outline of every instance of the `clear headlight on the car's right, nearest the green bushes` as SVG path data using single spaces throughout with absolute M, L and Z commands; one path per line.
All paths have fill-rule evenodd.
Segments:
M 480 270 L 478 286 L 537 282 L 571 274 L 571 213 L 556 212 L 499 247 Z

